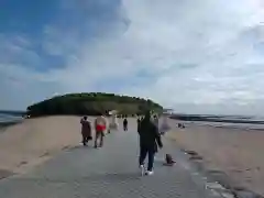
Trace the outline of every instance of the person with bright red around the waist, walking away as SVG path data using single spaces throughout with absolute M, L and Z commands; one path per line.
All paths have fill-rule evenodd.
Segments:
M 98 139 L 100 139 L 99 146 L 102 147 L 103 145 L 103 136 L 105 130 L 107 129 L 107 120 L 101 114 L 100 117 L 96 118 L 95 120 L 95 129 L 96 129 L 96 138 L 95 138 L 95 147 L 98 147 Z

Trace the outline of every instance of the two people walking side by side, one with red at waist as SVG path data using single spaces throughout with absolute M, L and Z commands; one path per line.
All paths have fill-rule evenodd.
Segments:
M 80 120 L 81 124 L 81 136 L 82 136 L 82 144 L 86 146 L 89 141 L 92 140 L 92 129 L 91 129 L 91 122 L 87 119 L 87 117 L 84 117 Z M 99 146 L 103 146 L 103 136 L 106 131 L 110 133 L 110 129 L 108 128 L 108 121 L 107 119 L 101 114 L 100 117 L 96 118 L 95 120 L 95 147 L 98 147 L 98 140 L 99 140 Z

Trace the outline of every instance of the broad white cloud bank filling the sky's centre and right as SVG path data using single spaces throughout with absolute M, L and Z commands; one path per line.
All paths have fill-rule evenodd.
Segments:
M 15 66 L 13 74 L 9 66 L 1 73 L 53 81 L 58 94 L 96 91 L 102 80 L 122 79 L 120 91 L 179 111 L 260 113 L 253 106 L 263 107 L 264 99 L 261 0 L 123 0 L 118 16 L 102 34 L 81 42 L 70 28 L 45 26 L 43 48 L 64 56 L 64 68 L 43 74 Z M 141 72 L 150 80 L 130 82 Z

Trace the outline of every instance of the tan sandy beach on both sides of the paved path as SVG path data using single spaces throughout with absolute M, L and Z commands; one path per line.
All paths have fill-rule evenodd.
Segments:
M 94 120 L 92 118 L 91 121 Z M 62 150 L 80 145 L 80 117 L 46 117 L 24 120 L 0 129 L 0 178 L 24 173 Z M 186 124 L 166 138 L 184 150 L 196 151 L 208 169 L 227 173 L 232 180 L 264 195 L 264 132 Z

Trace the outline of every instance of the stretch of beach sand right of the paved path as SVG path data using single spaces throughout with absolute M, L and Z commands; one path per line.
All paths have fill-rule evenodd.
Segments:
M 208 169 L 223 170 L 242 187 L 264 195 L 264 131 L 186 124 L 166 136 L 180 148 L 196 151 Z

